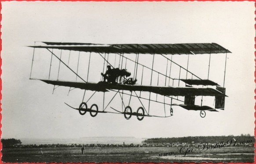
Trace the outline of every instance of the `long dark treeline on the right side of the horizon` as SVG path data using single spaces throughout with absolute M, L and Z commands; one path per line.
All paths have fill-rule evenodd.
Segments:
M 172 137 L 172 138 L 152 138 L 146 139 L 144 143 L 219 143 L 219 142 L 227 142 L 228 140 L 232 141 L 247 141 L 252 140 L 252 143 L 255 142 L 254 136 L 249 135 L 241 135 L 241 136 L 198 136 L 198 137 Z

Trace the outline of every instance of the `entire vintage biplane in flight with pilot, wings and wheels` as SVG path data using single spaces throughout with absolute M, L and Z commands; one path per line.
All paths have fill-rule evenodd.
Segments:
M 37 42 L 38 43 L 38 42 Z M 173 115 L 173 106 L 179 106 L 187 110 L 200 111 L 200 116 L 205 117 L 205 111 L 217 111 L 217 109 L 224 109 L 225 104 L 225 73 L 226 73 L 226 62 L 227 53 L 231 53 L 229 50 L 223 48 L 216 43 L 184 43 L 184 44 L 92 44 L 92 43 L 55 43 L 55 42 L 40 42 L 40 45 L 29 46 L 33 47 L 33 60 L 31 66 L 31 73 L 33 70 L 33 61 L 35 57 L 35 49 L 48 52 L 49 58 L 51 58 L 49 66 L 49 77 L 48 79 L 32 78 L 30 73 L 30 79 L 37 79 L 48 84 L 54 85 L 53 91 L 59 86 L 69 87 L 69 92 L 73 89 L 83 89 L 84 96 L 87 90 L 92 91 L 87 101 L 84 100 L 78 108 L 67 105 L 75 110 L 78 110 L 81 115 L 89 112 L 92 117 L 95 117 L 98 113 L 114 113 L 114 114 L 124 114 L 124 118 L 130 119 L 132 115 L 136 116 L 139 121 L 143 120 L 144 117 L 170 117 Z M 60 51 L 60 54 L 57 54 Z M 68 62 L 63 60 L 63 51 L 68 51 L 69 58 L 73 57 L 73 53 L 79 52 L 77 68 L 72 68 Z M 47 53 L 46 52 L 46 53 Z M 88 61 L 83 67 L 87 68 L 87 77 L 82 77 L 80 75 L 82 72 L 78 73 L 80 52 L 84 52 L 84 55 L 88 55 Z M 211 62 L 211 54 L 214 53 L 224 53 L 226 54 L 225 68 L 224 68 L 224 80 L 223 86 L 219 86 L 216 82 L 209 79 L 202 79 L 197 75 L 193 74 L 188 70 L 189 56 L 197 54 L 209 54 L 209 65 L 208 65 L 208 77 Z M 182 67 L 177 62 L 172 60 L 173 55 L 187 55 L 187 68 Z M 46 55 L 46 54 L 44 54 Z M 110 60 L 110 56 L 112 60 Z M 143 64 L 142 61 L 145 60 L 144 57 L 140 56 L 150 56 L 152 61 L 146 61 Z M 101 60 L 96 63 L 100 69 L 103 67 L 102 74 L 94 74 L 93 76 L 99 77 L 99 81 L 88 82 L 88 75 L 91 71 L 91 57 L 99 56 Z M 51 66 L 53 57 L 58 59 L 58 78 L 50 79 Z M 133 57 L 133 58 L 132 58 Z M 135 59 L 134 59 L 135 58 Z M 156 63 L 156 58 L 163 58 L 167 63 L 161 63 L 161 66 L 165 67 L 165 71 L 159 71 L 154 68 Z M 119 61 L 119 62 L 118 62 Z M 128 69 L 127 62 L 130 62 Z M 144 61 L 145 63 L 145 61 Z M 64 65 L 71 71 L 75 76 L 76 80 L 59 80 L 59 70 L 60 65 Z M 131 66 L 132 65 L 132 66 Z M 159 65 L 159 63 L 158 63 Z M 118 73 L 114 76 L 114 81 L 106 80 L 106 76 L 103 75 L 106 71 L 106 67 L 110 70 L 117 70 Z M 81 67 L 81 66 L 80 66 Z M 133 69 L 131 69 L 131 67 Z M 176 67 L 176 76 L 174 77 L 173 69 Z M 94 68 L 95 69 L 95 68 Z M 146 71 L 147 70 L 147 71 Z M 182 78 L 181 72 L 185 71 L 186 78 Z M 129 73 L 132 72 L 132 73 Z M 139 74 L 140 73 L 140 74 Z M 178 73 L 178 74 L 177 74 Z M 153 77 L 154 75 L 154 77 Z M 92 76 L 92 75 L 91 75 Z M 104 78 L 105 76 L 106 78 Z M 80 81 L 77 80 L 80 79 Z M 105 79 L 105 82 L 104 80 Z M 160 82 L 160 79 L 161 82 Z M 153 84 L 154 82 L 154 84 Z M 161 83 L 161 84 L 160 84 Z M 216 88 L 214 88 L 216 87 Z M 73 89 L 71 89 L 73 88 Z M 102 110 L 99 109 L 98 105 L 93 103 L 91 107 L 88 107 L 88 101 L 92 100 L 95 93 L 101 93 L 103 96 Z M 105 102 L 105 93 L 114 93 L 113 97 Z M 142 95 L 142 93 L 146 93 Z M 154 96 L 154 99 L 152 95 Z M 82 96 L 82 95 L 81 95 Z M 115 101 L 116 97 L 121 98 L 121 107 L 114 108 L 110 107 L 110 104 Z M 126 101 L 124 102 L 124 96 Z M 158 100 L 157 100 L 158 96 Z M 159 97 L 162 96 L 161 100 Z M 214 107 L 205 106 L 202 104 L 203 98 L 205 96 L 214 97 L 215 105 Z M 108 96 L 109 97 L 109 96 Z M 131 98 L 139 100 L 139 106 L 137 110 L 133 111 L 130 107 Z M 96 97 L 99 99 L 99 96 Z M 200 99 L 201 104 L 195 104 L 195 99 Z M 146 103 L 145 103 L 146 102 Z M 154 110 L 164 109 L 164 116 L 150 114 L 150 103 L 158 103 L 159 106 L 154 107 Z M 106 105 L 107 103 L 107 105 Z M 162 107 L 160 105 L 163 105 Z M 169 112 L 166 112 L 166 106 Z M 107 108 L 108 107 L 108 108 Z M 121 111 L 122 108 L 122 111 Z M 108 109 L 108 110 L 106 110 Z

